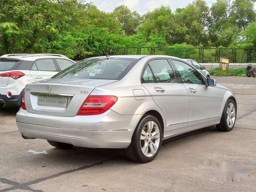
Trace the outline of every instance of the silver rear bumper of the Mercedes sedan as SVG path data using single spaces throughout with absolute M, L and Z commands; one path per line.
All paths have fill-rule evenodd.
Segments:
M 16 115 L 19 132 L 27 137 L 91 148 L 127 148 L 140 118 L 111 110 L 94 116 L 56 117 L 20 109 Z

